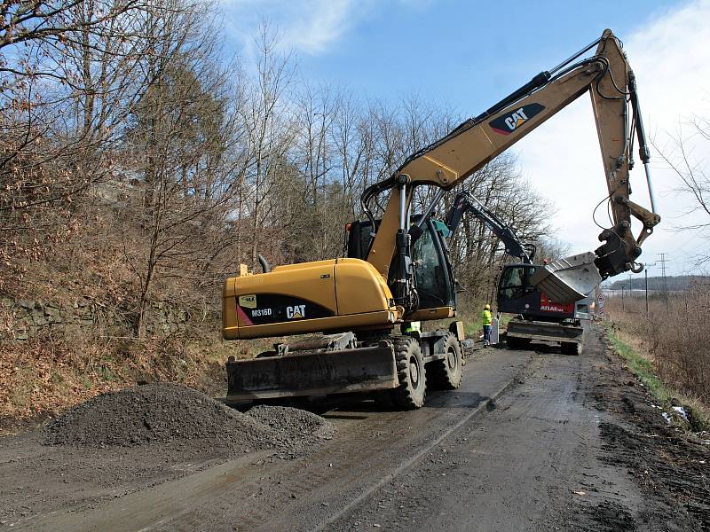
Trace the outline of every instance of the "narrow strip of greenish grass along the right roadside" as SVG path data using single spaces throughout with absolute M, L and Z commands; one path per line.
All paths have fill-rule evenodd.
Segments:
M 682 394 L 673 387 L 669 387 L 659 379 L 651 357 L 631 345 L 633 339 L 627 338 L 626 334 L 620 332 L 611 323 L 604 326 L 611 346 L 627 362 L 628 369 L 651 393 L 654 402 L 672 415 L 676 425 L 694 432 L 710 430 L 710 411 L 702 403 L 693 397 Z M 680 415 L 675 415 L 674 406 L 682 406 L 688 412 L 689 420 L 687 422 Z

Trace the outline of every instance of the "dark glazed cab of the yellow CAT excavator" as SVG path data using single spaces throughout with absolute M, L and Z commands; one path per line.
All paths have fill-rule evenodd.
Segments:
M 421 215 L 412 216 L 412 223 L 417 223 Z M 375 221 L 379 225 L 379 220 Z M 449 228 L 439 220 L 428 218 L 423 224 L 422 235 L 412 245 L 412 265 L 414 284 L 419 296 L 417 309 L 440 309 L 455 307 L 454 272 L 448 259 L 446 238 Z M 372 223 L 369 221 L 353 222 L 348 230 L 348 258 L 367 260 L 373 236 Z M 395 259 L 392 259 L 390 276 L 387 284 L 393 286 L 396 272 Z

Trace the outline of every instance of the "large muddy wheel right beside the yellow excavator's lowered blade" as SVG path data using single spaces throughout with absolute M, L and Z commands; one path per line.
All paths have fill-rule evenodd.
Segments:
M 392 402 L 398 408 L 422 408 L 427 391 L 427 375 L 419 342 L 409 336 L 394 340 L 399 387 L 391 391 Z

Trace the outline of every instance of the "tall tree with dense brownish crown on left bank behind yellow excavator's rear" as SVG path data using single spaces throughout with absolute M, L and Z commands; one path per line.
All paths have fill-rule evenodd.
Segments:
M 165 35 L 164 44 L 156 42 L 162 51 L 150 58 L 149 68 L 160 74 L 138 102 L 127 137 L 130 166 L 142 176 L 144 191 L 133 201 L 133 222 L 142 229 L 138 245 L 132 233 L 124 243 L 138 278 L 138 337 L 145 334 L 155 283 L 199 283 L 227 247 L 214 235 L 225 234 L 241 183 L 233 173 L 243 174 L 243 161 L 227 153 L 241 129 L 227 99 L 227 72 L 215 62 L 215 32 L 204 15 L 198 9 L 180 13 L 170 22 L 174 33 Z M 195 33 L 196 27 L 201 31 Z

